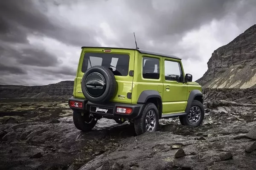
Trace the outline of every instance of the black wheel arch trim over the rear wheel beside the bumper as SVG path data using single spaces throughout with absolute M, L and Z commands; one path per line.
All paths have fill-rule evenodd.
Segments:
M 159 119 L 162 117 L 162 112 L 163 112 L 163 103 L 162 103 L 162 97 L 160 96 L 160 93 L 155 90 L 145 90 L 141 92 L 137 103 L 138 104 L 145 104 L 145 103 L 154 103 L 158 109 L 159 113 Z

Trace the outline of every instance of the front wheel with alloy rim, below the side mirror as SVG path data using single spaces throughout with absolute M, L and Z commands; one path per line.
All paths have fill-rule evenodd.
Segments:
M 189 114 L 186 116 L 180 116 L 181 125 L 198 127 L 204 120 L 204 105 L 194 100 L 189 110 Z

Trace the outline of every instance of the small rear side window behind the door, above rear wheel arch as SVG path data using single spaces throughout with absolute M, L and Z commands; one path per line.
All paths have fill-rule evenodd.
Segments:
M 143 57 L 142 74 L 145 79 L 160 78 L 160 61 L 157 58 Z

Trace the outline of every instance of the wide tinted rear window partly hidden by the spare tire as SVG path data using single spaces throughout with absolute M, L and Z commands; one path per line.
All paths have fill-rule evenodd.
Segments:
M 109 68 L 116 76 L 127 76 L 129 70 L 128 54 L 85 53 L 81 71 L 84 73 L 94 65 Z

